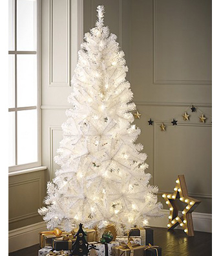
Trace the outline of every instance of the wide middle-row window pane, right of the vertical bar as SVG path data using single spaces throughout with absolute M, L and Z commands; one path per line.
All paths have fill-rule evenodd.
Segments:
M 37 104 L 37 56 L 17 55 L 17 107 Z

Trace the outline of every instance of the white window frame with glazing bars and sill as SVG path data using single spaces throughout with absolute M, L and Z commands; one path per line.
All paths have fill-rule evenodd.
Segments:
M 15 70 L 15 108 L 8 108 L 8 111 L 15 112 L 15 122 L 16 122 L 16 165 L 8 167 L 8 172 L 16 172 L 25 169 L 32 169 L 34 167 L 41 166 L 41 0 L 37 1 L 37 49 L 36 51 L 17 51 L 17 0 L 15 0 L 15 10 L 14 10 L 14 30 L 15 30 L 15 50 L 8 51 L 8 54 L 14 54 L 15 56 L 15 66 L 17 67 L 17 54 L 36 54 L 37 56 L 37 106 L 28 106 L 17 108 L 17 71 Z M 23 110 L 37 110 L 37 161 L 34 163 L 26 163 L 23 165 L 17 165 L 17 111 Z

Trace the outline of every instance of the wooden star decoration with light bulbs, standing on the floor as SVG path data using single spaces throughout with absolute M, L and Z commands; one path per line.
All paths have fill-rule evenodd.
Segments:
M 196 209 L 201 201 L 188 196 L 184 175 L 178 175 L 173 194 L 163 194 L 162 197 L 165 199 L 165 203 L 168 205 L 170 211 L 170 215 L 168 217 L 169 223 L 167 224 L 168 230 L 174 229 L 174 227 L 180 225 L 189 237 L 193 237 L 194 229 L 191 213 Z M 181 202 L 187 204 L 187 206 L 182 209 L 182 216 L 179 216 L 176 199 L 180 199 Z

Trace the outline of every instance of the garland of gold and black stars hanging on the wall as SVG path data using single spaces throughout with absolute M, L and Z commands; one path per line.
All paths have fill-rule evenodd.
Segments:
M 202 111 L 199 107 L 196 107 L 193 104 L 187 106 L 187 108 L 184 110 L 184 112 L 179 117 L 182 117 L 182 119 L 184 121 L 190 121 L 191 116 L 193 115 L 193 113 L 196 113 L 196 114 L 198 113 L 199 122 L 202 122 L 202 123 L 211 122 L 212 123 L 212 116 L 209 115 L 209 114 L 205 114 L 204 111 Z M 134 115 L 135 119 L 140 119 L 142 113 L 140 113 L 138 110 L 136 110 L 136 112 L 133 113 L 133 115 Z M 178 121 L 179 117 L 173 117 L 170 120 L 162 121 L 162 123 L 160 124 L 160 130 L 162 132 L 165 132 L 166 126 L 167 126 L 167 124 L 165 124 L 165 123 L 168 123 L 168 122 L 171 122 L 173 126 L 177 126 L 180 122 L 180 121 Z M 150 118 L 149 121 L 148 121 L 148 124 L 153 125 L 154 120 Z

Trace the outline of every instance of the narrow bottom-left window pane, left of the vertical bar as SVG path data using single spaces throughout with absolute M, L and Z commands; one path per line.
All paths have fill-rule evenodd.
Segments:
M 15 112 L 8 112 L 8 165 L 16 164 Z

